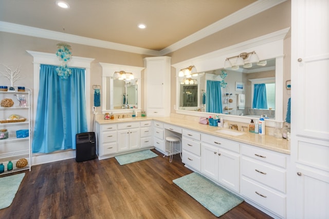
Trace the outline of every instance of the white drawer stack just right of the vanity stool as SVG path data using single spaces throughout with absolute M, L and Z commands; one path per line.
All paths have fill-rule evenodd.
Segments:
M 182 162 L 193 170 L 201 170 L 201 143 L 200 133 L 191 130 L 182 130 Z

